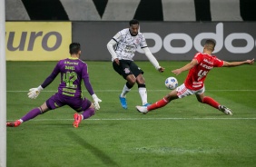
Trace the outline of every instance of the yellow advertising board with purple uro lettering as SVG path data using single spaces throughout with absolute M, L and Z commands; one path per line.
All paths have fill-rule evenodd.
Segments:
M 6 22 L 7 61 L 55 61 L 68 57 L 70 22 Z

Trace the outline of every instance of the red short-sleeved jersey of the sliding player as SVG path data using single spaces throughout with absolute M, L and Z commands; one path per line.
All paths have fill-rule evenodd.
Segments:
M 203 87 L 206 75 L 213 67 L 222 67 L 224 62 L 214 55 L 197 53 L 194 55 L 198 64 L 192 67 L 185 79 L 185 86 L 191 90 L 199 90 Z

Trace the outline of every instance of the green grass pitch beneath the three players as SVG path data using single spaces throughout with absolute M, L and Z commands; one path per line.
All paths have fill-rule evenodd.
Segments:
M 164 80 L 188 62 L 160 62 L 158 73 L 149 62 L 143 69 L 148 102 L 169 92 Z M 26 93 L 52 72 L 56 62 L 7 62 L 7 120 L 14 121 L 40 106 L 57 90 L 60 76 L 35 100 Z M 137 85 L 127 94 L 123 110 L 118 95 L 125 81 L 111 62 L 87 62 L 94 91 L 103 100 L 90 119 L 73 127 L 74 111 L 67 106 L 39 115 L 17 128 L 7 128 L 8 167 L 183 167 L 255 166 L 256 164 L 256 68 L 243 65 L 215 68 L 206 79 L 206 95 L 233 111 L 227 116 L 195 96 L 169 103 L 142 114 Z M 182 83 L 187 72 L 176 78 Z M 92 100 L 85 91 L 84 95 Z

